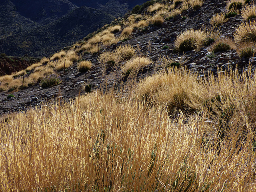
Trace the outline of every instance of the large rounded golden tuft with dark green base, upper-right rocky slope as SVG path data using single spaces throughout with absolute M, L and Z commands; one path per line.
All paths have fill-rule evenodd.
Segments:
M 186 52 L 200 48 L 202 41 L 206 38 L 206 32 L 202 30 L 186 30 L 179 34 L 174 41 L 176 49 Z

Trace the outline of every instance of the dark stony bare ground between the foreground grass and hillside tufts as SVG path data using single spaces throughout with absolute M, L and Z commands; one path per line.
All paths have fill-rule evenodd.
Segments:
M 214 57 L 210 57 L 212 50 L 210 46 L 202 47 L 200 50 L 188 52 L 175 52 L 174 40 L 186 29 L 210 28 L 210 18 L 217 12 L 224 12 L 226 2 L 222 0 L 209 0 L 198 10 L 189 9 L 182 15 L 175 16 L 164 21 L 162 26 L 147 26 L 144 30 L 136 29 L 133 38 L 126 42 L 118 42 L 116 45 L 104 46 L 102 52 L 112 51 L 121 44 L 131 44 L 137 49 L 137 54 L 148 56 L 153 63 L 144 67 L 137 74 L 136 80 L 144 78 L 150 74 L 164 70 L 160 58 L 169 57 L 179 62 L 181 67 L 193 70 L 198 74 L 198 78 L 207 78 L 208 73 L 218 74 L 222 71 L 248 70 L 249 62 L 254 71 L 256 58 L 240 58 L 235 49 L 216 52 Z M 186 16 L 186 17 L 184 17 Z M 230 18 L 220 27 L 220 39 L 233 38 L 236 26 L 242 22 L 241 15 Z M 162 48 L 168 46 L 166 50 Z M 79 47 L 77 47 L 79 48 Z M 91 84 L 92 90 L 106 90 L 107 88 L 119 89 L 123 86 L 129 76 L 124 76 L 120 68 L 104 68 L 98 62 L 98 54 L 84 54 L 82 59 L 92 61 L 92 69 L 86 73 L 78 72 L 77 62 L 68 68 L 66 72 L 60 72 L 59 77 L 62 83 L 51 88 L 41 88 L 39 84 L 13 93 L 14 97 L 8 98 L 8 92 L 0 93 L 0 115 L 10 112 L 27 110 L 28 107 L 40 106 L 46 101 L 69 101 L 75 99 L 79 94 L 85 94 L 82 89 L 83 84 Z

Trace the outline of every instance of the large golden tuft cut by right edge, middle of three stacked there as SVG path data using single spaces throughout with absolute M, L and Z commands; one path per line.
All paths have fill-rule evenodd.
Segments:
M 236 43 L 240 42 L 255 42 L 256 40 L 256 21 L 250 21 L 241 24 L 236 28 L 234 33 L 234 40 Z

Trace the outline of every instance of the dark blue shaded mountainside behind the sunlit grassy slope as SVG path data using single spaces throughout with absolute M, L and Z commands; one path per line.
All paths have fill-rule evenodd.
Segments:
M 49 56 L 143 2 L 1 0 L 0 53 Z

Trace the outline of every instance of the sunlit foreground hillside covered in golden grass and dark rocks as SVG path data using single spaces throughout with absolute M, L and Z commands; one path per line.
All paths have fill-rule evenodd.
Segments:
M 2 116 L 0 191 L 255 191 L 256 38 L 245 9 L 150 1 L 1 76 L 4 104 L 47 99 Z

